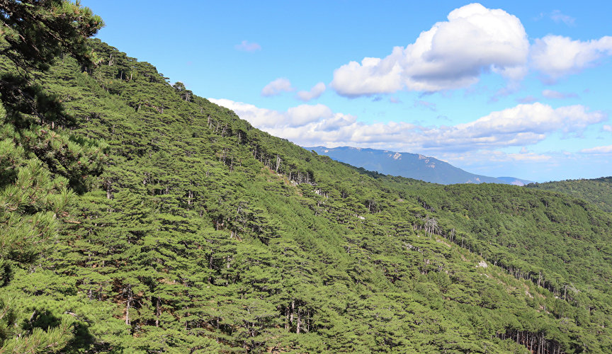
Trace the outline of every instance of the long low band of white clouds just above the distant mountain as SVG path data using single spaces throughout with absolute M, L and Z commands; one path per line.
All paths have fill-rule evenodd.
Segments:
M 468 152 L 509 146 L 526 146 L 550 133 L 579 134 L 607 117 L 582 105 L 553 108 L 542 103 L 516 105 L 459 125 L 424 127 L 407 122 L 365 123 L 353 115 L 334 113 L 326 105 L 299 105 L 285 112 L 257 108 L 229 100 L 213 103 L 234 110 L 272 135 L 302 146 L 372 147 L 407 152 Z M 536 159 L 522 154 L 515 159 Z

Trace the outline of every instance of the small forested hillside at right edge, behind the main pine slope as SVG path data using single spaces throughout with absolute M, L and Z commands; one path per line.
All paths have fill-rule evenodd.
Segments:
M 530 183 L 529 188 L 555 190 L 588 200 L 606 212 L 612 212 L 612 176 L 594 179 L 574 179 L 547 183 Z

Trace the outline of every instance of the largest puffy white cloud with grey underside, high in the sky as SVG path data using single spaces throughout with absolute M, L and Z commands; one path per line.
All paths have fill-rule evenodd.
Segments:
M 448 14 L 407 47 L 387 57 L 365 57 L 334 71 L 331 87 L 342 96 L 441 91 L 470 86 L 482 72 L 509 79 L 526 74 L 529 42 L 519 18 L 469 4 Z

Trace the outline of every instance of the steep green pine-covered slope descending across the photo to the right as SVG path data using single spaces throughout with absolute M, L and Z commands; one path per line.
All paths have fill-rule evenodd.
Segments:
M 40 81 L 77 125 L 43 127 L 105 166 L 1 288 L 20 331 L 70 324 L 68 353 L 612 353 L 609 214 L 354 169 L 91 45 Z

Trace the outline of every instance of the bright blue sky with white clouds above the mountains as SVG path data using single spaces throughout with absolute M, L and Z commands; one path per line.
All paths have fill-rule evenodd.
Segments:
M 302 146 L 531 181 L 612 175 L 606 1 L 81 4 L 101 40 Z

